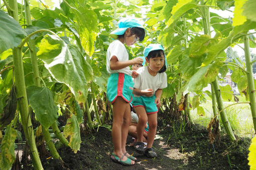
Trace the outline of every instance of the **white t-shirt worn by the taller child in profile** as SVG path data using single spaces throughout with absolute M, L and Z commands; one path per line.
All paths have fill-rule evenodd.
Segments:
M 127 61 L 129 60 L 129 55 L 128 52 L 124 46 L 124 44 L 119 41 L 118 39 L 114 40 L 111 42 L 107 48 L 107 54 L 106 54 L 106 69 L 108 73 L 116 73 L 116 72 L 121 72 L 125 73 L 127 75 L 132 75 L 132 71 L 130 70 L 129 66 L 126 66 L 125 68 L 122 69 L 116 69 L 116 70 L 111 70 L 110 69 L 110 59 L 111 57 L 115 55 L 118 59 L 118 61 Z

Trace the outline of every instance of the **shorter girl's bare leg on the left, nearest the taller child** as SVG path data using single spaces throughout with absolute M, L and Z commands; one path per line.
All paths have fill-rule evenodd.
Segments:
M 135 111 L 138 114 L 139 122 L 137 124 L 137 141 L 143 141 L 144 129 L 148 121 L 148 116 L 144 107 L 135 107 Z

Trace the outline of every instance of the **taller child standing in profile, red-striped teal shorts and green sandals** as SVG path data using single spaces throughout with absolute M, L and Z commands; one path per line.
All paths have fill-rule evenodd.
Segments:
M 107 48 L 106 69 L 110 73 L 107 81 L 107 98 L 113 104 L 112 140 L 114 150 L 111 159 L 124 165 L 133 165 L 137 160 L 126 152 L 125 144 L 128 128 L 132 120 L 130 101 L 134 82 L 132 76 L 138 76 L 136 71 L 130 70 L 129 65 L 142 64 L 143 58 L 129 60 L 124 44 L 130 46 L 145 37 L 145 28 L 134 18 L 122 18 L 118 21 L 118 28 L 110 33 L 115 39 Z

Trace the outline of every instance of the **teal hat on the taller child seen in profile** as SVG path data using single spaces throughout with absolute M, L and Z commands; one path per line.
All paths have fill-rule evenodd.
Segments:
M 117 35 L 122 35 L 124 34 L 125 30 L 127 28 L 131 28 L 131 27 L 140 27 L 140 28 L 143 28 L 143 25 L 136 19 L 136 18 L 131 18 L 131 17 L 124 17 L 124 18 L 121 18 L 118 22 L 118 28 L 113 30 L 112 32 L 110 32 L 110 36 L 113 38 L 113 39 L 116 39 L 117 38 Z M 145 29 L 145 33 L 146 33 L 146 29 Z

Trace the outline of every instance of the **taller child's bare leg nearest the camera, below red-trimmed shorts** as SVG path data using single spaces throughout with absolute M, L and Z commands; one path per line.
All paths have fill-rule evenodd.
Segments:
M 122 99 L 122 97 L 117 96 L 115 102 L 113 103 L 113 124 L 112 124 L 112 140 L 114 145 L 114 154 L 119 158 L 123 155 L 122 152 L 122 125 L 123 125 L 123 115 L 127 109 L 127 103 Z M 128 128 L 127 128 L 128 130 Z M 127 137 L 127 134 L 126 134 Z M 127 157 L 123 156 L 122 160 L 126 160 Z M 132 160 L 132 163 L 134 161 Z

